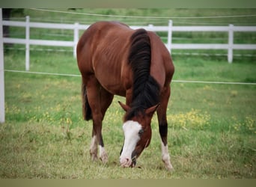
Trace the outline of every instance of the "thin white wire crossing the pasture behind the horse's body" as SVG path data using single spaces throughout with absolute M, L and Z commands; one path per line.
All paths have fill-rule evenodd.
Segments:
M 44 76 L 81 77 L 81 75 L 77 75 L 77 74 L 31 72 L 31 71 L 22 71 L 22 70 L 4 70 L 4 72 L 37 74 L 37 75 L 44 75 Z M 210 81 L 189 81 L 189 80 L 172 80 L 172 82 L 196 83 L 196 84 L 215 84 L 215 85 L 256 85 L 256 82 L 214 82 L 214 81 L 210 82 Z

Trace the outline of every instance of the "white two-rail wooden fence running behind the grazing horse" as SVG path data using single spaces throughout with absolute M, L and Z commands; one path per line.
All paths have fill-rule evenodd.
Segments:
M 2 25 L 25 27 L 25 39 L 4 37 L 4 43 L 19 43 L 25 44 L 25 70 L 29 70 L 29 47 L 30 45 L 40 46 L 67 46 L 73 47 L 73 55 L 76 56 L 76 43 L 79 40 L 79 30 L 86 30 L 89 25 L 80 25 L 78 22 L 74 24 L 58 24 L 58 23 L 42 23 L 42 22 L 30 22 L 29 16 L 26 16 L 25 22 L 16 21 L 2 21 Z M 173 26 L 172 21 L 168 22 L 167 26 L 130 26 L 133 29 L 145 28 L 148 31 L 163 31 L 168 33 L 168 40 L 165 46 L 171 52 L 171 49 L 227 49 L 228 62 L 233 61 L 233 49 L 256 49 L 256 44 L 234 44 L 234 32 L 255 32 L 256 26 Z M 30 39 L 30 28 L 52 28 L 52 29 L 70 29 L 73 30 L 73 41 L 61 41 L 61 40 L 32 40 Z M 172 32 L 175 31 L 216 31 L 216 32 L 228 32 L 228 43 L 172 43 Z

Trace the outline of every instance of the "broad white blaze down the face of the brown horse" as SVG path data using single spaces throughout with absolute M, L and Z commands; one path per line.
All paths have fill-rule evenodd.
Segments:
M 128 120 L 123 125 L 124 147 L 120 156 L 120 163 L 123 167 L 132 165 L 132 151 L 140 139 L 138 132 L 142 129 L 138 122 Z

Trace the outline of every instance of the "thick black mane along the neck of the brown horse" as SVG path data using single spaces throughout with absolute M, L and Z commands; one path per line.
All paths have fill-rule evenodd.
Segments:
M 132 103 L 126 120 L 144 114 L 144 110 L 159 103 L 159 84 L 150 76 L 151 48 L 150 37 L 144 29 L 132 34 L 129 51 L 129 64 L 132 67 Z

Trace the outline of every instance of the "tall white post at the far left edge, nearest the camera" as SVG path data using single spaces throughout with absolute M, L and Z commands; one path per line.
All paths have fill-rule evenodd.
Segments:
M 5 121 L 4 111 L 4 43 L 3 43 L 3 21 L 0 8 L 0 123 Z

